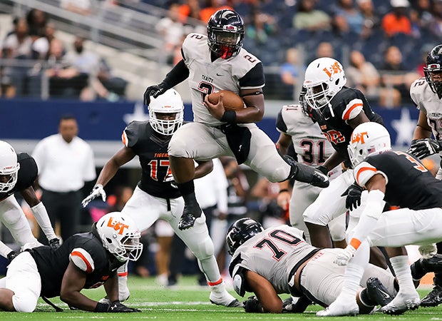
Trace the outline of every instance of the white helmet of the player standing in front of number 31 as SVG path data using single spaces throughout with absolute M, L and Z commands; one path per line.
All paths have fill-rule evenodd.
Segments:
M 344 87 L 346 78 L 341 63 L 334 58 L 317 58 L 305 71 L 303 86 L 307 89 L 305 99 L 309 106 L 321 109 Z

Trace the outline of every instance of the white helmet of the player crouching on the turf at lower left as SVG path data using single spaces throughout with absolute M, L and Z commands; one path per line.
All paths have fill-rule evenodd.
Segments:
M 128 215 L 121 215 L 120 212 L 108 213 L 98 220 L 96 230 L 103 247 L 120 262 L 140 258 L 143 251 L 140 231 Z

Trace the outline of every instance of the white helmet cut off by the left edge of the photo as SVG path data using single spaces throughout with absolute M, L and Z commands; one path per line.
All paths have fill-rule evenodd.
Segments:
M 0 193 L 8 193 L 14 188 L 19 177 L 20 164 L 17 154 L 9 143 L 0 141 Z

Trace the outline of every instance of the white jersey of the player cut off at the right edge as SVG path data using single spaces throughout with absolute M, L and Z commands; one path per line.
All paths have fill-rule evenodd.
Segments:
M 410 96 L 419 111 L 426 113 L 427 123 L 433 136 L 442 140 L 442 100 L 431 91 L 425 78 L 419 78 L 411 84 Z M 442 152 L 439 153 L 442 156 Z

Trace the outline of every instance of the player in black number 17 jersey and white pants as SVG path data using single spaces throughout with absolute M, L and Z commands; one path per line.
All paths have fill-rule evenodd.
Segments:
M 180 94 L 174 89 L 169 89 L 158 98 L 152 98 L 148 110 L 149 121 L 133 121 L 125 128 L 125 146 L 115 153 L 101 170 L 96 186 L 91 195 L 83 200 L 83 206 L 100 195 L 105 200 L 103 186 L 113 178 L 120 166 L 138 156 L 142 168 L 141 180 L 121 213 L 133 218 L 141 231 L 147 230 L 159 218 L 167 220 L 175 233 L 192 250 L 200 269 L 205 273 L 212 290 L 210 301 L 217 305 L 240 307 L 241 303 L 225 290 L 205 220 L 195 224 L 192 230 L 178 228 L 184 200 L 173 181 L 168 144 L 172 134 L 183 124 L 184 107 Z M 195 178 L 202 177 L 211 170 L 212 161 L 200 162 L 195 168 Z M 118 272 L 120 300 L 126 300 L 129 296 L 127 272 L 123 268 Z

